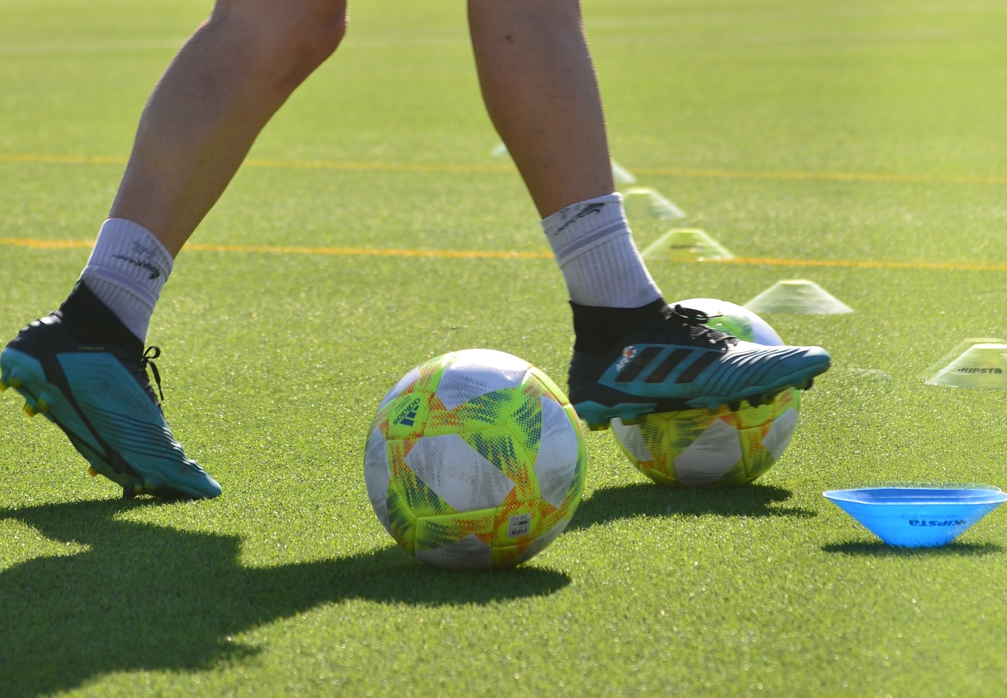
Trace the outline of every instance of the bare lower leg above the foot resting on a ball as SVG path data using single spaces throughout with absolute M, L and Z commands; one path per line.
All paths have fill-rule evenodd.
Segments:
M 577 0 L 468 0 L 482 97 L 540 215 L 615 191 Z

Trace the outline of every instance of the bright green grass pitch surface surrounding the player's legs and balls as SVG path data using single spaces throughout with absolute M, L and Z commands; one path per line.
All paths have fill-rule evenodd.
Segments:
M 184 0 L 0 0 L 0 237 L 91 239 Z M 499 165 L 463 3 L 370 0 L 253 158 Z M 588 0 L 613 154 L 629 169 L 1007 177 L 1001 3 Z M 1004 184 L 646 176 L 745 256 L 1007 264 Z M 640 245 L 667 224 L 635 221 Z M 243 170 L 193 241 L 545 249 L 513 173 Z M 0 337 L 88 250 L 0 246 Z M 492 574 L 391 545 L 365 429 L 422 359 L 487 346 L 562 379 L 549 259 L 183 251 L 150 340 L 166 410 L 225 488 L 122 503 L 50 424 L 0 402 L 0 695 L 998 695 L 1007 510 L 943 549 L 886 548 L 821 492 L 1003 486 L 1007 396 L 925 387 L 1007 335 L 1003 272 L 655 265 L 669 298 L 744 302 L 808 277 L 857 310 L 775 316 L 839 369 L 755 485 L 650 484 L 587 437 L 560 540 Z

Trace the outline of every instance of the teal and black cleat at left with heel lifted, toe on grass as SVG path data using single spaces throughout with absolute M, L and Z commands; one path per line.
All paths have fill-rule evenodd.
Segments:
M 157 347 L 141 354 L 81 344 L 50 315 L 3 350 L 0 381 L 24 396 L 26 414 L 41 413 L 63 430 L 90 464 L 89 475 L 121 485 L 124 497 L 217 497 L 221 486 L 185 458 L 164 420 L 147 377 L 149 367 L 160 391 L 152 361 L 159 355 Z

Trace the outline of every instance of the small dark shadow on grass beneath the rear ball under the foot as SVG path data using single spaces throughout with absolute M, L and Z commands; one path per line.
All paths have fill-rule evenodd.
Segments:
M 793 516 L 812 518 L 811 509 L 772 506 L 785 502 L 789 490 L 767 485 L 688 489 L 637 483 L 595 490 L 580 503 L 569 530 L 636 516 Z

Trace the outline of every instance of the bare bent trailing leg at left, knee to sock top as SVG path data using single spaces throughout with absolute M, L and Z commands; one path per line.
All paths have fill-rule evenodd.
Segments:
M 344 30 L 345 0 L 220 0 L 154 88 L 110 217 L 177 254 Z

